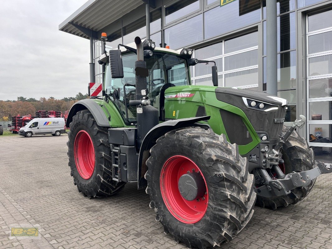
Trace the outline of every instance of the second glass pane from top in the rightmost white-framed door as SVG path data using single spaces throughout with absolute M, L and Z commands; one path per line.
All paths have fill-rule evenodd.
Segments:
M 309 53 L 332 50 L 332 31 L 308 37 Z

